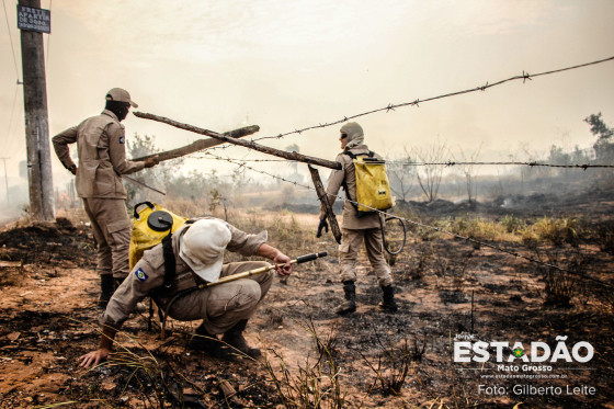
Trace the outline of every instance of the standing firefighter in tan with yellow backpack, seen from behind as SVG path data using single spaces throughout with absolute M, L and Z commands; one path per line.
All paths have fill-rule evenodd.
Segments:
M 364 145 L 363 129 L 357 123 L 349 122 L 341 127 L 340 132 L 339 140 L 343 151 L 337 156 L 336 161 L 342 164 L 342 169 L 331 172 L 326 190 L 331 206 L 341 186 L 345 191 L 341 243 L 339 245 L 339 265 L 345 300 L 334 311 L 339 315 L 346 315 L 356 310 L 356 266 L 363 242 L 377 283 L 382 287 L 383 302 L 379 307 L 387 311 L 396 311 L 398 307 L 395 302 L 390 266 L 384 257 L 379 214 L 373 211 L 373 208 L 387 209 L 393 205 L 384 161 L 382 157 L 368 150 L 368 147 Z M 365 172 L 360 171 L 360 168 L 364 169 L 364 167 L 371 169 Z M 378 167 L 382 168 L 376 169 Z M 357 189 L 363 178 L 372 178 L 377 172 L 380 172 L 382 180 L 375 178 L 368 183 L 363 183 L 364 189 Z M 365 197 L 363 198 L 362 195 Z M 363 203 L 371 206 L 361 206 Z M 317 237 L 322 235 L 322 229 L 328 231 L 323 205 L 320 211 Z

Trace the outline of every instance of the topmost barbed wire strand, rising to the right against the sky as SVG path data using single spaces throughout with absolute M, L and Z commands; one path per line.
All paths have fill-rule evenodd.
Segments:
M 576 65 L 576 66 L 572 66 L 572 67 L 559 68 L 559 69 L 554 69 L 554 70 L 549 70 L 549 71 L 544 71 L 544 72 L 537 72 L 537 73 L 528 73 L 528 72 L 525 72 L 523 70 L 522 75 L 520 75 L 520 76 L 510 77 L 510 78 L 499 80 L 499 81 L 496 81 L 496 82 L 492 82 L 492 83 L 489 83 L 488 81 L 486 81 L 486 83 L 484 86 L 478 86 L 478 87 L 470 88 L 470 89 L 467 89 L 467 90 L 448 92 L 448 93 L 444 93 L 444 94 L 441 94 L 441 95 L 427 98 L 427 99 L 423 99 L 423 100 L 416 99 L 413 101 L 402 102 L 402 103 L 399 103 L 399 104 L 389 103 L 387 106 L 383 106 L 383 107 L 378 107 L 378 109 L 375 109 L 375 110 L 366 111 L 366 112 L 363 112 L 363 113 L 360 113 L 360 114 L 343 116 L 343 118 L 337 120 L 337 121 L 333 121 L 333 122 L 312 125 L 312 126 L 307 126 L 307 127 L 304 127 L 304 128 L 300 128 L 300 129 L 295 129 L 295 130 L 282 133 L 282 134 L 275 135 L 275 136 L 263 136 L 261 138 L 252 138 L 251 141 L 255 143 L 255 141 L 264 140 L 264 139 L 281 139 L 281 138 L 284 138 L 288 135 L 294 135 L 294 134 L 298 135 L 298 134 L 302 134 L 304 132 L 311 130 L 311 129 L 326 128 L 326 127 L 329 127 L 329 126 L 332 126 L 332 125 L 342 124 L 342 123 L 348 122 L 350 120 L 355 120 L 355 118 L 361 117 L 361 116 L 375 114 L 377 112 L 390 112 L 390 111 L 395 111 L 398 107 L 405 107 L 405 106 L 420 106 L 421 103 L 436 101 L 436 100 L 441 100 L 441 99 L 444 99 L 444 98 L 463 95 L 463 94 L 467 94 L 467 93 L 471 93 L 471 92 L 478 92 L 478 91 L 486 91 L 486 90 L 488 90 L 492 87 L 498 87 L 498 86 L 501 86 L 501 84 L 503 84 L 505 82 L 510 82 L 510 81 L 522 80 L 522 83 L 525 83 L 526 80 L 531 81 L 531 80 L 533 80 L 533 78 L 536 78 L 536 77 L 549 76 L 549 75 L 557 73 L 557 72 L 564 72 L 564 71 L 578 69 L 578 68 L 594 66 L 594 65 L 602 64 L 602 63 L 607 63 L 607 61 L 611 61 L 611 60 L 614 60 L 614 56 L 609 57 L 609 58 L 604 58 L 604 59 L 600 59 L 600 60 L 596 60 L 596 61 L 584 63 L 584 64 Z M 223 145 L 223 146 L 217 146 L 217 147 L 209 148 L 209 150 L 227 149 L 228 147 L 229 146 L 224 146 Z

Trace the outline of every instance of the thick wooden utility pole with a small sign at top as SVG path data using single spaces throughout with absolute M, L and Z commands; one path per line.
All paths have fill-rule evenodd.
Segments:
M 50 33 L 50 13 L 41 0 L 19 0 L 18 27 L 21 30 L 21 60 L 30 214 L 35 220 L 55 220 L 47 83 L 43 33 Z

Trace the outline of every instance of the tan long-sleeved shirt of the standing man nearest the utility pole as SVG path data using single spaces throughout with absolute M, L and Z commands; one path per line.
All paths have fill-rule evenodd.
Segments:
M 52 140 L 67 169 L 75 164 L 68 145 L 77 143 L 79 167 L 75 184 L 79 197 L 126 198 L 121 175 L 145 167 L 145 162 L 126 160 L 124 125 L 109 110 L 66 129 Z

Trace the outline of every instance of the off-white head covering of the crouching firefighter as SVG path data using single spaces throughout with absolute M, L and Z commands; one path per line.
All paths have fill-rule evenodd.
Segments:
M 218 219 L 201 219 L 181 237 L 179 257 L 201 279 L 215 283 L 224 263 L 224 250 L 232 235 Z

